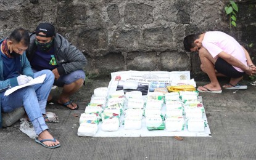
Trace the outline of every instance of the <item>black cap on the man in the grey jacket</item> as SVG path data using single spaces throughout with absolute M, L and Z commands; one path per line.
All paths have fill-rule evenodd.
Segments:
M 46 35 L 38 34 L 39 32 L 43 32 Z M 50 23 L 40 23 L 36 27 L 36 36 L 41 36 L 41 37 L 52 37 L 55 35 L 55 28 L 53 25 Z

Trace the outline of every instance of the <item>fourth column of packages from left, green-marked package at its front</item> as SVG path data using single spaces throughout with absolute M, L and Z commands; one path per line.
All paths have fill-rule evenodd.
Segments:
M 164 95 L 162 92 L 149 92 L 147 94 L 144 116 L 146 117 L 146 127 L 148 130 L 164 130 L 165 123 L 162 116 Z

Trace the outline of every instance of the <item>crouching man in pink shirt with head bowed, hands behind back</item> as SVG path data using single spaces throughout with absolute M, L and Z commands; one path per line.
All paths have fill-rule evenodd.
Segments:
M 199 92 L 221 93 L 217 76 L 230 78 L 225 89 L 247 89 L 237 83 L 246 73 L 256 73 L 250 55 L 236 39 L 221 31 L 209 31 L 202 34 L 191 34 L 183 41 L 188 52 L 199 52 L 201 69 L 208 74 L 210 84 L 197 88 Z

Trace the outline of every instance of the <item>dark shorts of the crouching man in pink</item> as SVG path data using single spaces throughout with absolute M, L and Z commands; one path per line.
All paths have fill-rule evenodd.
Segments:
M 218 57 L 215 63 L 215 70 L 217 70 L 218 73 L 222 73 L 229 78 L 240 78 L 245 74 L 244 72 L 237 71 L 232 65 L 230 65 L 228 62 L 220 57 Z

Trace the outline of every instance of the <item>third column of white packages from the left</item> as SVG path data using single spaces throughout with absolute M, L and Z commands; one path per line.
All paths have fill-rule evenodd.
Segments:
M 124 129 L 141 129 L 144 98 L 141 91 L 131 91 L 125 94 L 127 105 L 125 108 Z

